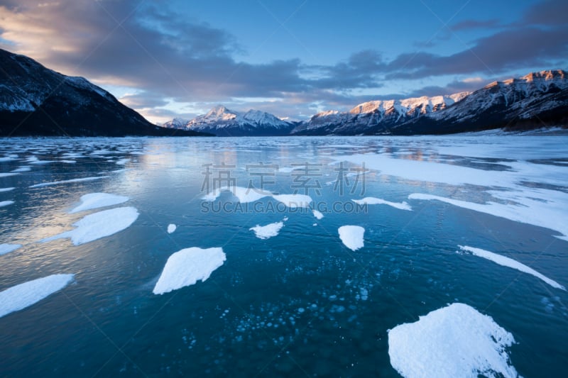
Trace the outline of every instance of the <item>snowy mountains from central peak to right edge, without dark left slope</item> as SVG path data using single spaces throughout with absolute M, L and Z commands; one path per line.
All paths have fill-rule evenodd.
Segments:
M 532 72 L 492 82 L 473 92 L 410 99 L 368 101 L 349 111 L 324 111 L 290 123 L 269 113 L 239 113 L 216 106 L 170 128 L 219 136 L 242 135 L 415 135 L 466 131 L 525 130 L 568 123 L 568 78 L 563 70 Z

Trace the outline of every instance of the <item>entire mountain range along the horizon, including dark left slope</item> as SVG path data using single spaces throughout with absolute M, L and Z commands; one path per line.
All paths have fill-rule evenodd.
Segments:
M 303 122 L 219 105 L 191 120 L 175 118 L 157 126 L 87 79 L 0 50 L 0 136 L 415 135 L 567 125 L 567 73 L 550 70 L 492 82 L 473 92 L 368 101 Z

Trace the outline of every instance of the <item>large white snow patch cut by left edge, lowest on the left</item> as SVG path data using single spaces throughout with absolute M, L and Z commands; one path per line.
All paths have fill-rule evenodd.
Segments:
M 66 287 L 72 280 L 73 274 L 52 274 L 1 291 L 0 318 L 41 301 Z

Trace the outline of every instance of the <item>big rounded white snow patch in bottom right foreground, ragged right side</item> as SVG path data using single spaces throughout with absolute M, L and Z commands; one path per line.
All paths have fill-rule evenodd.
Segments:
M 491 316 L 459 303 L 388 331 L 391 365 L 403 377 L 518 377 L 506 351 L 513 343 Z

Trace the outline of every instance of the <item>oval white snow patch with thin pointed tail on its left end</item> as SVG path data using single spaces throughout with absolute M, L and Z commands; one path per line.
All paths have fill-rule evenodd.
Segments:
M 138 211 L 133 207 L 119 207 L 92 213 L 73 223 L 75 230 L 41 240 L 48 242 L 55 239 L 71 238 L 74 245 L 89 243 L 92 240 L 113 235 L 128 228 L 138 218 Z

